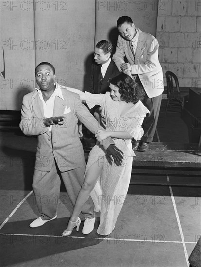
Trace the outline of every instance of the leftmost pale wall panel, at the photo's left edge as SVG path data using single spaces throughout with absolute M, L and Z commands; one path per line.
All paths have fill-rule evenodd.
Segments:
M 0 109 L 20 110 L 34 84 L 33 1 L 0 1 Z

